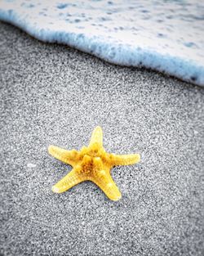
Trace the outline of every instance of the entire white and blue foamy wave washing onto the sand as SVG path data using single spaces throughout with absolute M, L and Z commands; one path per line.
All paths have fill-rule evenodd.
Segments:
M 204 86 L 201 0 L 0 0 L 0 20 L 42 41 Z

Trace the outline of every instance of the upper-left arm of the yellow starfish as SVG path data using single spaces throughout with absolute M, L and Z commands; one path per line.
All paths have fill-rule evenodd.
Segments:
M 58 146 L 49 146 L 48 152 L 60 161 L 73 165 L 78 159 L 77 150 L 64 150 Z

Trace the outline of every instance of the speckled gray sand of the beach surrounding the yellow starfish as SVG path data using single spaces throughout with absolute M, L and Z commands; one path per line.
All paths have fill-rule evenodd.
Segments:
M 0 254 L 203 255 L 204 90 L 109 65 L 0 24 Z M 91 182 L 51 186 L 71 169 L 50 144 L 140 152 L 113 168 L 122 200 Z

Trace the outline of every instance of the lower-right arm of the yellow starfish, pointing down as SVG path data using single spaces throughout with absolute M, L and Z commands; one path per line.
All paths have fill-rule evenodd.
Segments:
M 108 196 L 110 200 L 118 201 L 121 199 L 122 195 L 116 186 L 113 178 L 107 171 L 101 170 L 98 175 L 92 180 L 97 186 L 100 187 L 104 194 Z

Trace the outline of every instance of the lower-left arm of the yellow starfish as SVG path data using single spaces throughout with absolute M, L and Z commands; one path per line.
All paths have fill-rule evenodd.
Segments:
M 57 182 L 54 186 L 52 186 L 51 190 L 55 193 L 63 193 L 64 191 L 68 191 L 69 188 L 77 185 L 78 183 L 86 181 L 86 175 L 82 173 L 77 173 L 73 168 L 70 173 L 68 173 L 65 177 L 63 177 L 60 182 Z

